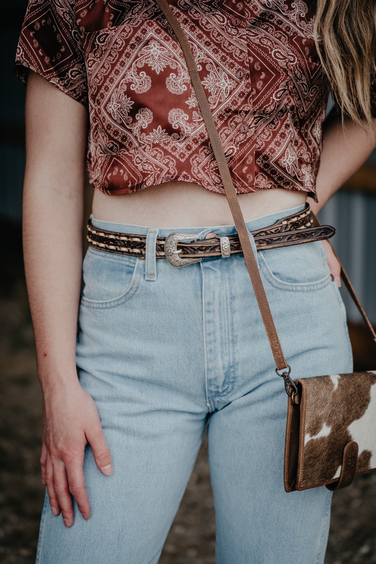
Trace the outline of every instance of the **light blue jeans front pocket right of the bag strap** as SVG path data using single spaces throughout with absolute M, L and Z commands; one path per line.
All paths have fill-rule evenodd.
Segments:
M 308 292 L 331 281 L 321 241 L 259 251 L 258 257 L 261 274 L 282 290 Z

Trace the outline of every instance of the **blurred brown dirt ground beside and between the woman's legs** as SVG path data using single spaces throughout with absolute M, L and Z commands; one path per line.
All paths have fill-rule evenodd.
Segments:
M 41 394 L 20 259 L 12 254 L 0 264 L 0 562 L 29 564 L 35 561 L 44 495 L 39 474 Z M 376 563 L 375 529 L 376 473 L 334 493 L 325 564 Z M 214 564 L 214 548 L 204 443 L 160 564 Z

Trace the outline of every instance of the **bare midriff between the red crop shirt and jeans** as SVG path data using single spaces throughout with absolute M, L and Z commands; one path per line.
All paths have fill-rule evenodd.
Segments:
M 307 193 L 286 188 L 238 195 L 245 221 L 304 204 Z M 150 227 L 231 225 L 227 198 L 190 182 L 166 182 L 120 196 L 94 192 L 95 219 Z

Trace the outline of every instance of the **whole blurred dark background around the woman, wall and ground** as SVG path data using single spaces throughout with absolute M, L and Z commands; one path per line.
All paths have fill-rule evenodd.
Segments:
M 25 163 L 25 88 L 12 72 L 25 0 L 0 1 L 0 561 L 34 562 L 44 488 L 39 477 L 41 395 L 26 297 L 21 246 Z M 86 218 L 92 189 L 86 187 Z M 322 223 L 337 229 L 334 247 L 376 325 L 376 152 L 325 206 Z M 341 290 L 342 291 L 342 290 Z M 376 368 L 364 327 L 343 298 L 355 368 Z M 314 315 L 314 312 L 312 313 Z M 374 349 L 373 349 L 374 351 Z M 376 475 L 334 496 L 327 564 L 376 562 Z M 351 515 L 351 519 L 350 519 Z M 161 564 L 214 563 L 214 514 L 205 444 L 166 541 Z M 278 563 L 271 563 L 278 564 Z

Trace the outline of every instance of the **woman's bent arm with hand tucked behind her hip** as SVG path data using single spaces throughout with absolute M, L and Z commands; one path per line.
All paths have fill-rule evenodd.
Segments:
M 376 127 L 376 120 L 374 120 Z M 344 127 L 334 112 L 328 116 L 324 127 L 324 147 L 322 148 L 319 173 L 316 180 L 316 193 L 319 202 L 310 202 L 313 213 L 317 214 L 337 190 L 361 167 L 375 148 L 371 133 L 351 121 Z M 329 268 L 340 282 L 340 266 L 329 241 L 323 241 Z

